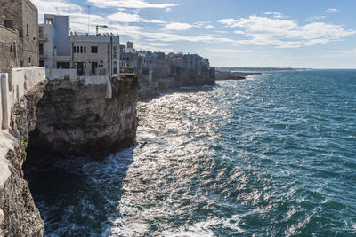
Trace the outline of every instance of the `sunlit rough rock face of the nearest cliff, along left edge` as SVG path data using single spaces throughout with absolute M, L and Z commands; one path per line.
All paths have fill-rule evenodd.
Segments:
M 0 185 L 0 236 L 42 236 L 44 233 L 44 222 L 22 172 L 28 133 L 35 129 L 36 104 L 43 96 L 44 87 L 44 83 L 40 83 L 20 99 L 12 108 L 11 134 L 2 131 L 11 148 L 6 154 L 10 174 Z

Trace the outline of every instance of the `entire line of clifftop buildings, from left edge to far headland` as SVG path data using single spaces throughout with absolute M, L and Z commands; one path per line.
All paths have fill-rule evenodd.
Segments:
M 136 51 L 133 42 L 121 45 L 113 34 L 71 31 L 69 16 L 45 14 L 44 23 L 38 24 L 36 6 L 29 0 L 0 0 L 0 55 L 0 72 L 41 67 L 50 80 L 108 87 L 120 76 L 120 67 L 133 67 L 142 83 L 156 86 L 183 76 L 214 76 L 209 61 L 197 54 Z M 122 75 L 127 72 L 122 70 Z

